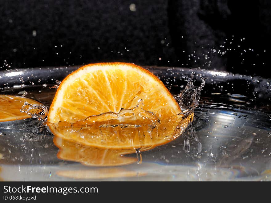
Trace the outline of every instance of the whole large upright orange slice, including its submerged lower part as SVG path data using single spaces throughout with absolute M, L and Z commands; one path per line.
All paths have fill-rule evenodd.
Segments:
M 149 149 L 187 127 L 192 116 L 184 119 L 180 112 L 151 72 L 129 63 L 97 63 L 62 81 L 47 125 L 55 136 L 92 147 Z

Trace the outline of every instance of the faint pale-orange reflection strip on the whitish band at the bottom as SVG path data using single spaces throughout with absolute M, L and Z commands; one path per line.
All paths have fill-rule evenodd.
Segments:
M 136 171 L 128 171 L 122 168 L 100 168 L 92 170 L 67 170 L 58 171 L 57 175 L 75 179 L 105 179 L 105 178 L 122 178 L 122 177 L 139 177 L 145 176 L 147 173 L 138 173 Z

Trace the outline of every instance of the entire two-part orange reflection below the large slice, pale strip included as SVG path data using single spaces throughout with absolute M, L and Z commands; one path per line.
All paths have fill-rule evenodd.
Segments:
M 125 157 L 124 154 L 135 152 L 132 149 L 104 149 L 90 147 L 70 140 L 54 137 L 54 143 L 59 148 L 57 157 L 62 160 L 79 162 L 87 166 L 119 166 L 132 164 L 137 161 L 134 157 Z M 74 179 L 105 179 L 121 177 L 139 177 L 147 173 L 126 170 L 123 168 L 99 168 L 80 170 L 61 170 L 56 174 L 61 177 Z

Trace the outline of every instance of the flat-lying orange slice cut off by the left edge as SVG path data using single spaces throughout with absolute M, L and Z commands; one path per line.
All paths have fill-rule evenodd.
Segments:
M 26 113 L 20 112 L 24 102 L 40 104 L 26 97 L 0 95 L 0 122 L 31 118 Z

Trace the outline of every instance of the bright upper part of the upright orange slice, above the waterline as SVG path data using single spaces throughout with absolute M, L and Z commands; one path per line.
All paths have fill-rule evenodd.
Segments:
M 60 84 L 51 104 L 48 122 L 73 122 L 105 112 L 143 109 L 160 118 L 180 113 L 164 84 L 151 72 L 129 63 L 97 63 L 79 68 Z

